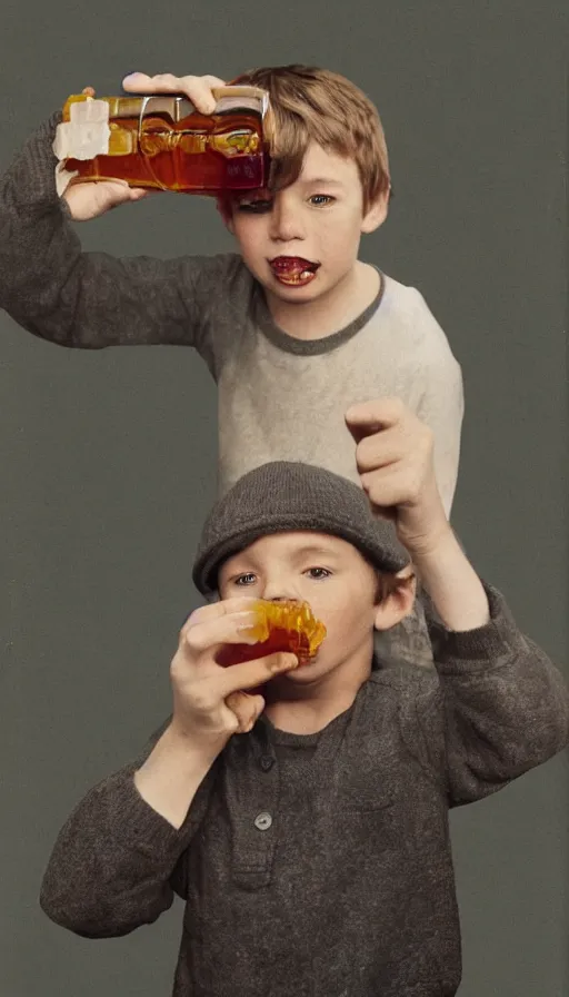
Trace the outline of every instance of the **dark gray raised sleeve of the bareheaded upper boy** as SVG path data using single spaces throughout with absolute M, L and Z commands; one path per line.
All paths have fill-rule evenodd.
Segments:
M 59 120 L 56 113 L 41 126 L 0 179 L 0 307 L 60 346 L 200 349 L 203 310 L 219 296 L 232 257 L 83 253 L 56 189 L 51 146 Z

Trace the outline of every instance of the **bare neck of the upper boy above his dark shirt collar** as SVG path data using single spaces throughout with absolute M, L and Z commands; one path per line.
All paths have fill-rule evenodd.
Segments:
M 272 320 L 295 339 L 323 339 L 355 322 L 378 296 L 379 272 L 357 260 L 346 277 L 313 302 L 296 304 L 266 293 Z

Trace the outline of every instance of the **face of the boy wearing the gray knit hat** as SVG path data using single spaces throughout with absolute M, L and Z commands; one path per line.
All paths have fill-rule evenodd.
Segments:
M 359 551 L 323 533 L 263 536 L 226 561 L 219 572 L 221 599 L 303 600 L 326 625 L 327 636 L 315 661 L 287 674 L 284 684 L 311 685 L 331 672 L 369 670 L 373 625 L 395 625 L 408 611 L 378 606 L 377 592 L 377 574 Z

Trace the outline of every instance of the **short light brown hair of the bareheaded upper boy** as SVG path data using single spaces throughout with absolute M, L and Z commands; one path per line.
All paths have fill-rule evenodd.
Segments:
M 277 66 L 243 72 L 233 83 L 262 87 L 270 98 L 266 135 L 272 159 L 270 186 L 282 189 L 300 175 L 311 141 L 353 159 L 363 210 L 391 189 L 383 127 L 377 108 L 350 80 L 329 69 Z

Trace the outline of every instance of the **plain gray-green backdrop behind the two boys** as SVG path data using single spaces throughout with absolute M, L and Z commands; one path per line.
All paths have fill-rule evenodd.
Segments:
M 567 26 L 566 4 L 548 0 L 194 0 L 162 13 L 132 0 L 8 0 L 0 31 L 2 167 L 69 92 L 117 92 L 133 69 L 230 77 L 308 61 L 367 90 L 397 196 L 363 256 L 418 286 L 449 336 L 467 396 L 456 526 L 561 662 Z M 231 245 L 211 204 L 181 196 L 121 208 L 81 236 L 118 254 Z M 51 925 L 37 898 L 74 801 L 169 710 L 214 493 L 214 387 L 189 351 L 72 353 L 0 322 L 0 994 L 166 997 L 179 906 L 93 942 Z M 558 758 L 453 815 L 461 997 L 569 994 L 567 774 Z

